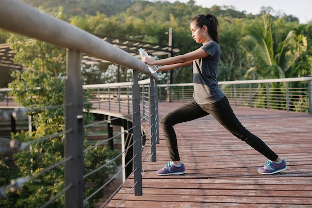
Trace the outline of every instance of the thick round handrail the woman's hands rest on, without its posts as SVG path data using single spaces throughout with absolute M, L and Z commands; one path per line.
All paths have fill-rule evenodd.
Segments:
M 77 49 L 90 56 L 131 69 L 138 69 L 157 79 L 157 73 L 152 74 L 147 64 L 126 51 L 17 0 L 0 1 L 0 27 L 61 47 Z

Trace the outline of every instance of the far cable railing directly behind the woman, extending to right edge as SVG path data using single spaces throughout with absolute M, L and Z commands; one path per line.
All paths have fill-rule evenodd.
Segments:
M 219 86 L 231 105 L 249 106 L 312 114 L 312 77 L 222 81 Z M 193 99 L 193 83 L 159 84 L 158 99 L 166 98 L 171 87 L 171 101 L 185 102 Z

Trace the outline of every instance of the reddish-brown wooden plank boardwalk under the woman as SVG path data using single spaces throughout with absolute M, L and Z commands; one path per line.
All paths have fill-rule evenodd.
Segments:
M 159 103 L 159 117 L 182 104 Z M 143 173 L 143 195 L 132 191 L 120 207 L 312 208 L 312 115 L 235 106 L 233 110 L 248 130 L 285 158 L 286 171 L 258 174 L 266 158 L 206 116 L 175 126 L 186 174 L 156 175 L 169 160 L 159 129 L 157 162 L 150 162 Z M 133 184 L 129 179 L 107 207 L 118 207 Z

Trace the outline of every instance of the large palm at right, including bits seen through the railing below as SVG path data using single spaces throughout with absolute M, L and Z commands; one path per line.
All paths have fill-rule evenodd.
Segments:
M 245 75 L 246 77 L 252 79 L 293 77 L 298 60 L 307 51 L 308 42 L 307 37 L 301 32 L 294 28 L 289 29 L 292 26 L 294 26 L 294 22 L 287 22 L 283 18 L 273 22 L 272 16 L 267 14 L 262 16 L 260 23 L 255 23 L 254 26 L 248 28 L 244 48 L 249 57 L 250 68 Z M 272 83 L 272 85 L 280 88 L 279 91 L 281 92 L 276 91 L 274 96 L 278 97 L 281 94 L 280 101 L 278 101 L 279 105 L 285 105 L 286 98 L 282 95 L 286 93 L 284 92 L 286 91 L 285 84 Z M 265 89 L 265 86 L 263 88 Z M 259 103 L 265 102 L 265 90 L 260 90 L 259 94 Z M 271 102 L 271 104 L 274 106 L 274 103 Z M 290 97 L 290 104 L 293 104 L 292 97 Z

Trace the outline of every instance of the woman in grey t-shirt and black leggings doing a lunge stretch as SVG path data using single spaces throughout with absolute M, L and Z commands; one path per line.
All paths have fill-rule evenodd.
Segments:
M 192 18 L 190 29 L 193 39 L 197 43 L 202 43 L 200 48 L 184 55 L 159 60 L 153 60 L 150 57 L 142 58 L 149 65 L 163 65 L 158 68 L 158 71 L 193 65 L 194 99 L 167 113 L 160 120 L 171 161 L 156 171 L 157 175 L 186 173 L 185 166 L 180 161 L 173 126 L 209 114 L 234 136 L 268 158 L 264 167 L 258 169 L 258 173 L 275 174 L 287 169 L 284 159 L 280 158 L 260 138 L 242 126 L 233 113 L 225 94 L 218 86 L 217 76 L 221 53 L 218 26 L 219 22 L 214 15 L 197 15 Z

